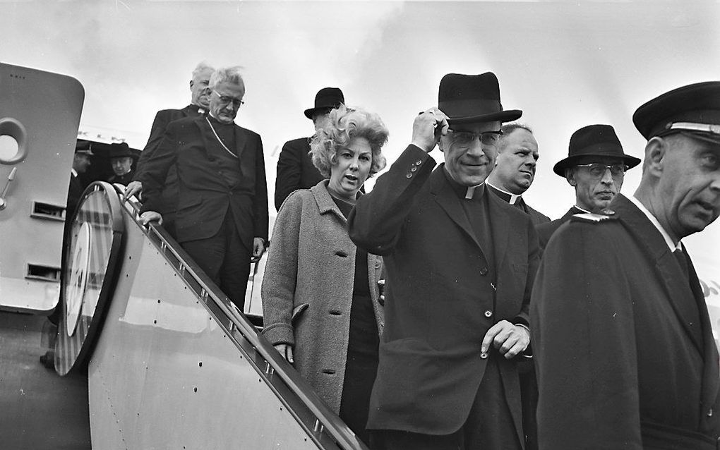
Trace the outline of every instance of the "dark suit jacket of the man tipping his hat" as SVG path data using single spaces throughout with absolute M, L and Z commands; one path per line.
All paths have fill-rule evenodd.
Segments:
M 485 333 L 503 319 L 528 320 L 539 252 L 530 217 L 485 194 L 497 258 L 495 270 L 488 270 L 461 199 L 444 167 L 433 171 L 435 164 L 408 146 L 348 217 L 351 239 L 384 256 L 387 268 L 369 429 L 457 431 L 485 375 Z M 493 271 L 494 281 L 488 276 Z M 516 361 L 494 349 L 490 358 L 498 361 L 518 440 L 524 441 Z

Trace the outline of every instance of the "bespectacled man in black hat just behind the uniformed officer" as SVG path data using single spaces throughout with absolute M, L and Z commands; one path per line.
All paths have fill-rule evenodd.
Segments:
M 564 216 L 537 228 L 540 247 L 545 248 L 552 234 L 570 217 L 601 213 L 620 192 L 625 172 L 640 163 L 626 155 L 611 125 L 588 125 L 572 133 L 567 158 L 555 164 L 555 174 L 575 188 L 575 206 Z

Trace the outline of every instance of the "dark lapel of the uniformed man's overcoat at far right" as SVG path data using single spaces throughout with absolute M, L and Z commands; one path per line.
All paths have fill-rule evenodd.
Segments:
M 610 207 L 615 210 L 621 223 L 626 225 L 625 228 L 629 233 L 634 235 L 636 242 L 648 253 L 652 261 L 655 261 L 655 267 L 660 272 L 660 278 L 667 291 L 667 299 L 672 305 L 672 309 L 678 315 L 680 323 L 688 336 L 690 336 L 690 340 L 693 341 L 698 351 L 703 354 L 701 327 L 690 326 L 690 323 L 698 320 L 696 314 L 698 307 L 694 302 L 688 303 L 686 301 L 689 298 L 694 299 L 695 295 L 691 291 L 688 279 L 685 278 L 678 261 L 670 248 L 667 247 L 665 239 L 662 238 L 660 231 L 652 225 L 638 207 L 622 194 L 618 194 L 613 199 Z

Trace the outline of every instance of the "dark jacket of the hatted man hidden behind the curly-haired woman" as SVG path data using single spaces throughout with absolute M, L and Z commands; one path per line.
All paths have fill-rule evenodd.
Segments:
M 310 139 L 289 140 L 282 146 L 275 179 L 275 209 L 278 211 L 289 194 L 297 189 L 310 189 L 325 178 L 308 154 Z

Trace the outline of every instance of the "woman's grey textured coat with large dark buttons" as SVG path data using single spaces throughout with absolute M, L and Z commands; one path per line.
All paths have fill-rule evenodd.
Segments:
M 294 366 L 336 413 L 345 379 L 356 246 L 328 181 L 293 192 L 275 220 L 262 287 L 264 335 L 293 347 Z M 377 330 L 382 258 L 368 255 Z M 300 312 L 292 320 L 293 311 Z

